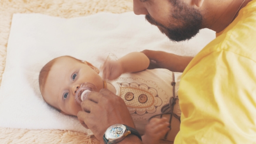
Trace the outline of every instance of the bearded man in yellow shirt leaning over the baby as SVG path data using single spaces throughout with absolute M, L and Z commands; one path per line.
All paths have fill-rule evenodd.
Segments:
M 172 41 L 184 41 L 200 29 L 216 39 L 194 58 L 144 50 L 149 68 L 183 72 L 178 97 L 180 131 L 175 144 L 256 143 L 256 0 L 133 0 L 134 13 L 144 14 Z M 178 68 L 178 69 L 177 69 Z M 123 101 L 102 89 L 81 106 L 78 118 L 103 141 L 112 124 L 134 128 Z M 104 111 L 109 115 L 98 115 Z M 118 144 L 142 144 L 128 134 Z

